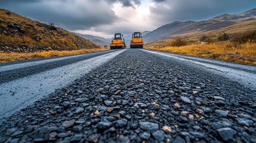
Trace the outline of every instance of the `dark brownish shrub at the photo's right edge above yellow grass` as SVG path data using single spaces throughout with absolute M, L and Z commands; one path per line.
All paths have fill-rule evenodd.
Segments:
M 256 30 L 246 31 L 243 33 L 236 33 L 232 36 L 231 40 L 235 43 L 246 43 L 256 41 Z

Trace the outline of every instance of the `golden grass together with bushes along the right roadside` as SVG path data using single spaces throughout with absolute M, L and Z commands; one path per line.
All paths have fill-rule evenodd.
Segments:
M 146 49 L 256 65 L 256 30 L 229 35 L 202 35 L 199 42 L 178 37 L 165 45 L 147 44 Z

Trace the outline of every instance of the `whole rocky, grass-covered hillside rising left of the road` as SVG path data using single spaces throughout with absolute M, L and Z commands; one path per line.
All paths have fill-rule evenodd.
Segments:
M 67 30 L 0 9 L 0 51 L 35 52 L 100 48 Z

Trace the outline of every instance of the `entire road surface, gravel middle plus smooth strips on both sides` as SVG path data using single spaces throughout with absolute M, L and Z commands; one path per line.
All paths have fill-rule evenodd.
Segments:
M 256 142 L 255 66 L 122 49 L 0 74 L 0 142 Z

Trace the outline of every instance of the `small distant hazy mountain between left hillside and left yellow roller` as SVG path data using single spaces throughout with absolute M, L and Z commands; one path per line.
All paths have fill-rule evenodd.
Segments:
M 90 41 L 92 41 L 92 42 L 94 42 L 98 45 L 101 45 L 101 46 L 109 45 L 111 43 L 111 39 L 105 39 L 105 38 L 102 38 L 100 36 L 83 35 L 83 34 L 80 34 L 80 33 L 75 33 L 75 34 L 79 35 L 79 36 L 82 36 L 83 38 L 89 39 Z

